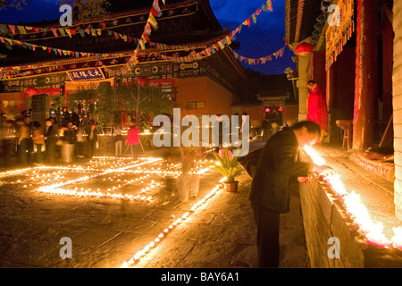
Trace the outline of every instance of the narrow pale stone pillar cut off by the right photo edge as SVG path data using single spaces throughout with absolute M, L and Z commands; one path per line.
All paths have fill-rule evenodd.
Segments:
M 393 82 L 393 121 L 395 150 L 395 215 L 402 220 L 402 2 L 394 1 L 393 7 L 394 71 Z

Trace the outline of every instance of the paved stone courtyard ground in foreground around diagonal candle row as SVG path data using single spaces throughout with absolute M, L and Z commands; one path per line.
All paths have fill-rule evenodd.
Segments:
M 220 179 L 215 172 L 205 173 L 198 198 Z M 255 222 L 248 201 L 251 181 L 246 174 L 239 181 L 238 192 L 219 190 L 134 267 L 256 267 Z M 120 267 L 197 202 L 179 203 L 172 195 L 174 189 L 162 189 L 158 199 L 147 204 L 44 194 L 21 184 L 3 186 L 0 267 Z M 281 215 L 281 267 L 306 267 L 297 189 L 290 204 L 291 212 Z M 71 238 L 71 259 L 60 257 L 63 237 Z

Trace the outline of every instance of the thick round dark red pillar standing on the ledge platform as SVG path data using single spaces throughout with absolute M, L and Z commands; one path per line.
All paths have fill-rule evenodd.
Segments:
M 353 147 L 373 146 L 378 94 L 378 0 L 357 1 L 356 92 Z M 358 112 L 358 114 L 357 114 Z

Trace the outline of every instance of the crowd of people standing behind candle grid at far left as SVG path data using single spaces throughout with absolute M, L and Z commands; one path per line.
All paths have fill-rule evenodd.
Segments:
M 80 116 L 67 107 L 51 106 L 48 118 L 41 124 L 33 121 L 29 111 L 10 119 L 1 114 L 0 139 L 4 167 L 17 165 L 54 164 L 92 158 L 97 147 L 96 122 Z

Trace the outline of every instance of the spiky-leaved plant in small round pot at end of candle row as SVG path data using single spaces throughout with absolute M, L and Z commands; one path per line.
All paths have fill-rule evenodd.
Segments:
M 239 181 L 236 181 L 243 169 L 239 164 L 239 157 L 233 156 L 231 151 L 227 148 L 221 148 L 219 153 L 213 153 L 216 163 L 213 166 L 213 170 L 226 177 L 226 181 L 223 182 L 225 190 L 229 192 L 236 192 L 238 190 Z

